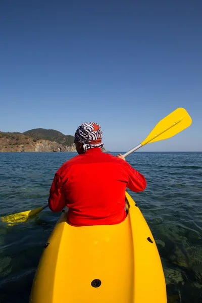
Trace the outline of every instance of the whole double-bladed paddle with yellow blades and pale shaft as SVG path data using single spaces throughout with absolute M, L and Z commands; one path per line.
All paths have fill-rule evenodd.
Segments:
M 123 156 L 126 157 L 130 155 L 131 153 L 133 153 L 133 151 L 137 150 L 138 148 L 147 143 L 168 139 L 176 135 L 183 129 L 189 127 L 190 125 L 191 117 L 189 116 L 187 111 L 183 108 L 178 108 L 174 112 L 166 116 L 164 119 L 162 119 L 150 132 L 150 134 L 146 137 L 144 141 L 127 151 L 127 153 L 125 153 Z M 2 217 L 1 220 L 8 223 L 25 222 L 29 217 L 37 215 L 47 206 L 48 204 L 36 210 L 5 216 Z

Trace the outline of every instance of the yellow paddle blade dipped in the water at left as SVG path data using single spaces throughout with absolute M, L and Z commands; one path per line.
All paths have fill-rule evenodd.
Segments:
M 4 216 L 1 218 L 1 220 L 3 222 L 7 222 L 7 223 L 26 222 L 28 218 L 37 215 L 43 209 L 44 209 L 44 207 L 40 207 L 36 210 L 22 212 L 22 213 L 18 213 L 18 214 L 9 215 L 9 216 Z

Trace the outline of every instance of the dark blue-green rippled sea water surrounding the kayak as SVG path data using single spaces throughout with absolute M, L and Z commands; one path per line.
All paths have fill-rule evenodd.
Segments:
M 0 216 L 45 205 L 56 170 L 75 155 L 0 153 Z M 147 180 L 144 192 L 130 194 L 156 239 L 168 302 L 202 302 L 202 153 L 134 153 L 127 161 Z M 26 223 L 0 221 L 1 303 L 29 301 L 59 215 L 45 209 Z

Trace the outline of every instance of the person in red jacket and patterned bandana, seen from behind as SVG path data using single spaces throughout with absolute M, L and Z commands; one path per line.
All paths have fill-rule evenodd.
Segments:
M 126 218 L 125 190 L 142 191 L 146 180 L 125 158 L 102 151 L 103 133 L 95 122 L 82 123 L 74 142 L 78 156 L 56 172 L 48 198 L 49 208 L 69 208 L 73 226 L 118 224 Z

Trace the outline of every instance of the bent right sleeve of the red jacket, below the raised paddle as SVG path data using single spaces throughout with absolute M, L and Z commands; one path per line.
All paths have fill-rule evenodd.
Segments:
M 142 174 L 136 171 L 129 163 L 126 162 L 128 171 L 128 183 L 127 187 L 135 192 L 142 191 L 146 188 L 146 180 Z

